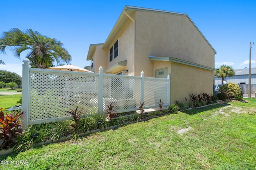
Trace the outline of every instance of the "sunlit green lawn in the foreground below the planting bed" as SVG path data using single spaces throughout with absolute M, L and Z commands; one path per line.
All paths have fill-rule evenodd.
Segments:
M 0 157 L 1 169 L 255 170 L 256 99 L 192 109 Z M 178 130 L 189 131 L 179 134 Z M 16 161 L 28 164 L 16 164 Z

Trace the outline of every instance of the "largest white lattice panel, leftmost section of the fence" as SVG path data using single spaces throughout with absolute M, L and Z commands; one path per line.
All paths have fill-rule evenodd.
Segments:
M 98 76 L 30 71 L 30 119 L 34 122 L 52 122 L 68 119 L 70 108 L 86 112 L 98 111 Z M 97 102 L 96 102 L 97 100 Z

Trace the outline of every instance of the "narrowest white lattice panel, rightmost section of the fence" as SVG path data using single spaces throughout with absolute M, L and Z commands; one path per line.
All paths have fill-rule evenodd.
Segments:
M 159 100 L 165 104 L 168 102 L 168 80 L 167 79 L 144 79 L 144 106 L 158 107 Z

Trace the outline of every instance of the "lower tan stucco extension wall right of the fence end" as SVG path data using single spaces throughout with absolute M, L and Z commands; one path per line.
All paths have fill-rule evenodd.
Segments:
M 213 93 L 214 72 L 179 63 L 171 64 L 171 104 L 190 99 L 190 94 Z

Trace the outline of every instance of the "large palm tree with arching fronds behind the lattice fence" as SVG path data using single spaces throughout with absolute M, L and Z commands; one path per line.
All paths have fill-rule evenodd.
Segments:
M 30 59 L 32 67 L 48 68 L 57 64 L 69 63 L 71 56 L 62 47 L 62 43 L 57 39 L 51 39 L 41 35 L 38 31 L 27 29 L 25 32 L 18 28 L 13 28 L 8 32 L 3 32 L 0 39 L 0 53 L 5 53 L 6 49 L 14 52 L 14 57 L 20 59 L 20 53 L 28 52 L 26 58 Z

